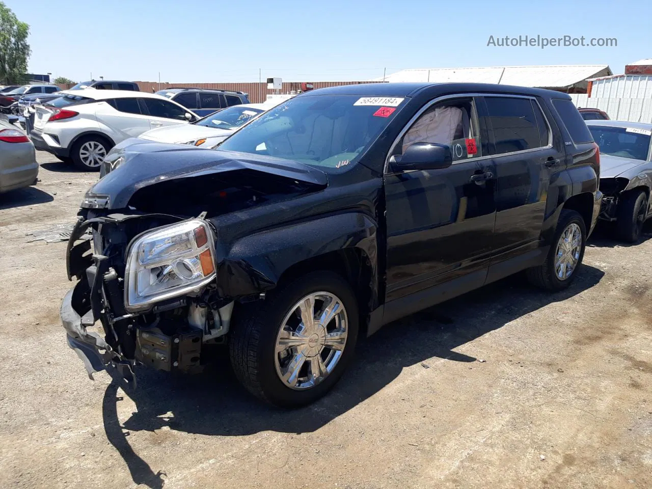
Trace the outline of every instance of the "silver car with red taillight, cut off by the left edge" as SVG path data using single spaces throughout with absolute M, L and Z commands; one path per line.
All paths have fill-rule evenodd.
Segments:
M 34 145 L 22 130 L 0 116 L 0 192 L 34 185 L 37 175 Z

